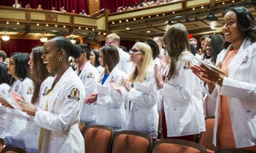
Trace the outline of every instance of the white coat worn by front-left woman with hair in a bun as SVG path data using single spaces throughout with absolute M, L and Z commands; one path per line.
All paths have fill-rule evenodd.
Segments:
M 54 83 L 42 86 L 51 89 Z M 45 129 L 42 153 L 85 152 L 83 136 L 78 128 L 85 99 L 85 88 L 70 67 L 62 75 L 48 96 L 48 111 L 38 110 L 34 123 Z

